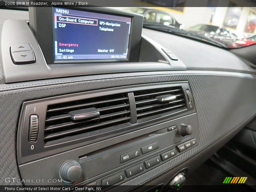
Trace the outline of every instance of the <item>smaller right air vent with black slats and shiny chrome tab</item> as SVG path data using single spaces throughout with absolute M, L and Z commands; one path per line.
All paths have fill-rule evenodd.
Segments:
M 181 86 L 134 92 L 137 119 L 186 110 Z

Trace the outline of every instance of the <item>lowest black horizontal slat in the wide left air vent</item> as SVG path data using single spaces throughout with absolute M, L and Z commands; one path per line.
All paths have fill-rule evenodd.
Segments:
M 76 133 L 76 132 L 81 132 L 81 131 L 84 131 L 84 130 L 93 129 L 93 128 L 97 128 L 97 127 L 108 125 L 108 124 L 114 124 L 114 123 L 117 123 L 117 122 L 127 121 L 129 119 L 130 119 L 130 117 L 123 117 L 123 118 L 120 118 L 120 119 L 101 122 L 99 124 L 90 125 L 90 126 L 86 126 L 86 127 L 82 127 L 82 128 L 75 128 L 75 129 L 65 130 L 65 131 L 61 131 L 61 132 L 57 132 L 57 133 L 49 133 L 49 134 L 44 135 L 44 140 L 52 139 L 52 138 L 55 138 L 55 137 L 60 137 L 60 136 L 63 136 L 63 135 L 68 135 L 68 134 L 72 134 L 72 133 Z

